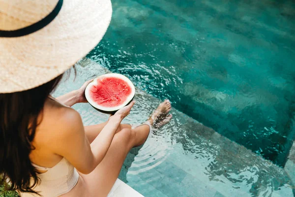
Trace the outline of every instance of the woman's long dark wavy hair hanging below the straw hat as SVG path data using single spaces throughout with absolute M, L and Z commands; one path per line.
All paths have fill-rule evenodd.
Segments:
M 30 90 L 0 94 L 0 184 L 5 190 L 37 194 L 32 190 L 39 180 L 29 160 L 34 149 L 31 142 L 42 121 L 45 100 L 61 78 Z

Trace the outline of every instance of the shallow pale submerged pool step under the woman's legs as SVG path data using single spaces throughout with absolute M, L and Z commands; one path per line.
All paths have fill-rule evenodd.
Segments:
M 80 65 L 80 66 L 79 66 Z M 109 72 L 97 63 L 78 63 L 76 81 L 64 82 L 56 95 Z M 160 103 L 137 90 L 136 105 L 125 123 L 143 123 Z M 74 106 L 85 125 L 107 121 L 89 104 Z M 254 154 L 187 115 L 172 109 L 172 121 L 128 154 L 119 178 L 145 197 L 293 197 L 284 169 Z

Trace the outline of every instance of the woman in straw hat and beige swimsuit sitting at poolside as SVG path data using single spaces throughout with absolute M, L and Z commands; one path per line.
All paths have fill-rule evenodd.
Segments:
M 146 141 L 150 125 L 171 119 L 169 100 L 135 129 L 120 124 L 134 102 L 84 127 L 70 106 L 86 102 L 90 81 L 57 99 L 50 94 L 102 38 L 110 1 L 2 0 L 0 8 L 2 183 L 21 197 L 106 197 L 129 150 Z

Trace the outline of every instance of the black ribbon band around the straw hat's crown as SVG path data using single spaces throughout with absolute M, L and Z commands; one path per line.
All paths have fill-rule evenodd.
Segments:
M 57 17 L 61 9 L 62 3 L 63 3 L 63 0 L 59 0 L 56 7 L 52 10 L 52 12 L 50 12 L 50 14 L 48 14 L 42 20 L 28 27 L 18 29 L 18 30 L 12 30 L 12 31 L 0 30 L 0 37 L 20 37 L 20 36 L 28 35 L 30 33 L 34 33 L 34 32 L 37 32 L 38 30 L 41 30 Z

